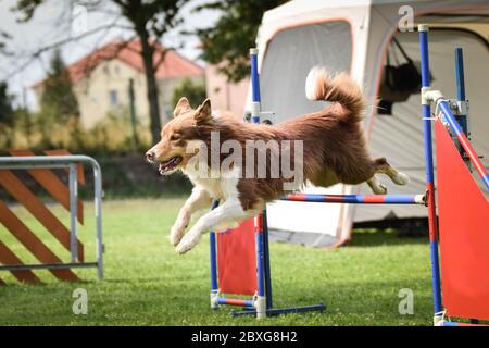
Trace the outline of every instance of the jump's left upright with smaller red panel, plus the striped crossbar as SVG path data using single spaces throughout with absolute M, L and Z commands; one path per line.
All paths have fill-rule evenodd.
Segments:
M 260 123 L 261 98 L 258 72 L 258 50 L 251 49 L 252 115 Z M 325 203 L 372 204 L 424 204 L 425 195 L 304 195 L 290 194 L 281 200 Z M 214 202 L 213 208 L 218 202 Z M 253 237 L 254 235 L 254 237 Z M 211 308 L 221 304 L 243 307 L 231 315 L 256 315 L 265 318 L 284 313 L 322 311 L 324 303 L 309 307 L 277 309 L 273 307 L 272 275 L 268 249 L 266 211 L 238 228 L 225 233 L 211 233 Z M 244 258 L 243 256 L 247 256 Z M 223 294 L 253 296 L 251 300 L 226 298 Z

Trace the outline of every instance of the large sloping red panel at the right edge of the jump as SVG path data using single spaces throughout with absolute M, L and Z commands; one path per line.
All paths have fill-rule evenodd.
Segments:
M 489 320 L 489 203 L 440 121 L 435 132 L 443 304 Z

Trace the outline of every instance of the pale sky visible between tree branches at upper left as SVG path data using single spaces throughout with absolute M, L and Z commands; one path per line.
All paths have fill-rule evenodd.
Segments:
M 7 80 L 9 91 L 16 97 L 15 103 L 17 105 L 25 102 L 29 109 L 36 108 L 35 96 L 30 87 L 42 80 L 48 71 L 52 51 L 42 53 L 40 58 L 32 60 L 34 52 L 60 40 L 76 37 L 97 27 L 111 24 L 116 18 L 116 15 L 114 15 L 116 9 L 111 8 L 109 1 L 104 2 L 106 5 L 103 13 L 90 11 L 90 9 L 83 7 L 71 8 L 70 2 L 66 0 L 47 0 L 37 10 L 30 22 L 17 23 L 17 18 L 22 15 L 11 11 L 16 0 L 0 0 L 0 29 L 12 36 L 7 45 L 8 50 L 14 53 L 13 57 L 0 55 L 0 80 Z M 178 52 L 191 60 L 198 60 L 199 42 L 196 37 L 183 36 L 179 32 L 212 26 L 218 17 L 218 13 L 214 11 L 200 13 L 191 11 L 196 5 L 203 2 L 208 1 L 192 0 L 183 7 L 184 24 L 168 33 L 163 40 L 163 45 L 167 47 L 179 47 L 180 44 L 184 44 Z M 117 24 L 124 25 L 127 23 L 117 22 Z M 71 64 L 108 41 L 121 38 L 128 39 L 133 35 L 134 33 L 123 28 L 100 32 L 86 36 L 76 42 L 62 46 L 62 57 L 66 64 Z

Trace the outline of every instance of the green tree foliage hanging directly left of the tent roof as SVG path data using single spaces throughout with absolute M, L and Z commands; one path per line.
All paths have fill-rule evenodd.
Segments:
M 222 12 L 217 23 L 195 33 L 202 42 L 201 58 L 218 64 L 218 71 L 230 82 L 239 82 L 249 75 L 249 49 L 255 46 L 255 38 L 263 13 L 287 0 L 220 0 L 196 8 L 196 11 L 216 10 Z

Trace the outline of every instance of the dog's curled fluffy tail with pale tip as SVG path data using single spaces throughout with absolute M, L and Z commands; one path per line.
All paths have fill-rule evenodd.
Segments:
M 305 79 L 305 97 L 310 100 L 338 102 L 343 107 L 343 112 L 338 115 L 343 122 L 355 123 L 362 120 L 365 108 L 362 89 L 346 73 L 331 76 L 326 69 L 314 66 Z

